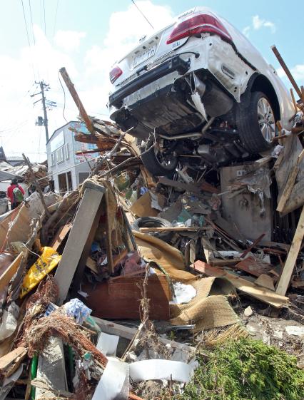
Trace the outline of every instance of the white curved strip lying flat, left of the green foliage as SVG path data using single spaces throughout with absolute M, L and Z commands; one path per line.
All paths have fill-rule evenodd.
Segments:
M 182 361 L 151 359 L 130 364 L 130 378 L 134 382 L 166 379 L 186 383 L 192 372 L 193 365 Z

